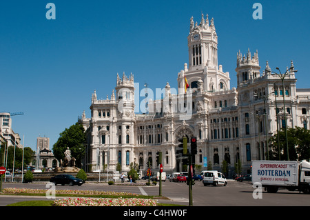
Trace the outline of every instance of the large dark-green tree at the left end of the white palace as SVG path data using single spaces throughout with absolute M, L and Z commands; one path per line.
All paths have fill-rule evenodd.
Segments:
M 76 166 L 81 168 L 81 161 L 85 155 L 85 143 L 85 130 L 81 123 L 75 123 L 59 134 L 59 139 L 54 143 L 52 150 L 56 159 L 61 161 L 65 158 L 65 150 L 69 148 L 71 156 L 76 159 Z

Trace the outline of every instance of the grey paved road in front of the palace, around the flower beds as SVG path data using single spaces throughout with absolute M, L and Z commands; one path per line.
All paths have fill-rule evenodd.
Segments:
M 40 188 L 47 189 L 46 183 L 3 183 L 3 188 Z M 115 192 L 134 192 L 138 194 L 158 195 L 158 186 L 108 186 L 106 183 L 85 183 L 82 186 L 56 186 L 58 189 L 103 190 Z M 247 182 L 229 181 L 227 186 L 203 186 L 196 182 L 193 186 L 194 206 L 310 206 L 310 194 L 279 190 L 270 194 L 262 192 L 262 199 L 253 198 L 254 188 Z M 188 206 L 188 186 L 186 183 L 163 182 L 162 195 L 169 197 L 165 203 Z M 0 197 L 0 206 L 6 206 L 23 200 L 38 200 L 45 197 Z

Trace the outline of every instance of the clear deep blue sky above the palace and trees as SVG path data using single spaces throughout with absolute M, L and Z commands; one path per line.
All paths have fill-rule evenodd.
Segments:
M 46 4 L 56 6 L 48 20 Z M 255 20 L 254 3 L 262 5 Z M 236 54 L 258 50 L 260 66 L 285 70 L 293 60 L 297 88 L 310 88 L 307 64 L 310 1 L 64 1 L 0 2 L 0 112 L 25 146 L 50 137 L 50 149 L 65 128 L 76 123 L 96 90 L 105 99 L 116 86 L 116 73 L 134 74 L 149 88 L 177 87 L 188 63 L 189 19 L 214 17 L 218 63 L 236 87 Z M 141 98 L 142 99 L 142 98 Z

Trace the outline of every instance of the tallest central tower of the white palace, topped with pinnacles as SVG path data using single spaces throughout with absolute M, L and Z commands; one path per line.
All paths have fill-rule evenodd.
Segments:
M 214 19 L 209 21 L 208 14 L 201 14 L 199 24 L 193 17 L 190 19 L 187 46 L 189 64 L 185 63 L 184 70 L 178 73 L 178 91 L 185 93 L 186 83 L 195 89 L 200 80 L 205 91 L 230 90 L 229 72 L 223 72 L 223 66 L 218 65 L 218 35 Z

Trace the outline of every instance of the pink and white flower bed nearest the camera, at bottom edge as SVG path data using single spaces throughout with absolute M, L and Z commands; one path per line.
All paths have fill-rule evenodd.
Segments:
M 94 198 L 68 198 L 57 199 L 53 206 L 157 206 L 154 199 L 94 199 Z

